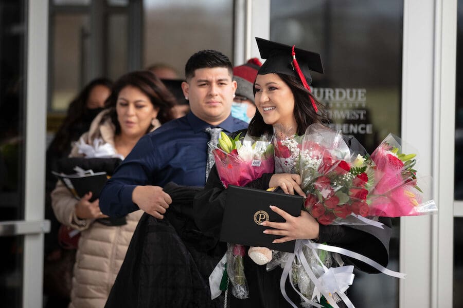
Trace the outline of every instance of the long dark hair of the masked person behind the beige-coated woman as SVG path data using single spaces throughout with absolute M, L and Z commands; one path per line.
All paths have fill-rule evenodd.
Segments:
M 90 93 L 96 86 L 104 86 L 111 89 L 113 83 L 107 78 L 94 79 L 77 94 L 77 97 L 70 102 L 67 108 L 66 118 L 64 118 L 63 124 L 56 132 L 55 138 L 50 144 L 50 148 L 57 152 L 62 152 L 67 156 L 71 148 L 71 143 L 88 130 L 92 119 L 87 118 L 89 118 L 89 115 L 93 117 L 94 114 L 92 114 L 91 109 L 87 107 L 87 101 L 88 97 L 90 97 Z M 82 126 L 83 122 L 87 123 L 83 125 L 85 127 L 83 127 L 82 131 L 80 126 Z

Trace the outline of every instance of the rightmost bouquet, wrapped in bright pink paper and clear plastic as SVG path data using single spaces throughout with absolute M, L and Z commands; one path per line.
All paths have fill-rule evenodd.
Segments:
M 390 133 L 371 154 L 377 183 L 368 195 L 369 215 L 401 217 L 437 211 L 430 197 L 430 177 L 416 177 L 416 155 L 403 153 L 406 147 Z

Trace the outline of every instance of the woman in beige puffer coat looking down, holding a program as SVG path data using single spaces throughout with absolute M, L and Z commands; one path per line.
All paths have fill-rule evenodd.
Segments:
M 92 122 L 70 158 L 73 161 L 96 162 L 93 171 L 114 170 L 105 167 L 113 158 L 126 158 L 140 138 L 173 119 L 173 94 L 150 71 L 127 73 L 116 81 L 105 102 L 105 109 Z M 89 147 L 96 142 L 105 150 L 105 156 L 92 155 Z M 94 148 L 94 152 L 97 151 Z M 80 166 L 80 165 L 79 165 Z M 58 181 L 51 192 L 52 207 L 57 219 L 64 225 L 80 230 L 76 264 L 72 279 L 70 308 L 103 307 L 126 255 L 132 234 L 143 214 L 138 210 L 123 217 L 111 219 L 103 215 L 99 199 L 92 201 L 89 192 L 80 200 Z

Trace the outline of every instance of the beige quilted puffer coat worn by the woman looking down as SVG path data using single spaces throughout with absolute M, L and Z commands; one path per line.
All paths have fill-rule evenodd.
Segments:
M 115 127 L 111 120 L 99 125 L 106 112 L 97 115 L 82 138 L 87 144 L 101 138 L 115 149 Z M 156 125 L 154 129 L 159 126 Z M 69 157 L 81 156 L 77 146 L 74 146 Z M 62 224 L 81 230 L 69 308 L 102 308 L 143 211 L 137 210 L 127 215 L 127 224 L 122 226 L 106 226 L 91 219 L 80 220 L 75 216 L 77 200 L 60 181 L 51 192 L 51 202 L 55 216 Z

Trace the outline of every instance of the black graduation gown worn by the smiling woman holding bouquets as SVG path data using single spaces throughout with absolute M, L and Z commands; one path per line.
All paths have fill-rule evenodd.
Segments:
M 242 131 L 244 136 L 245 131 Z M 355 139 L 346 139 L 348 145 L 362 153 L 362 146 Z M 356 143 L 355 143 L 356 142 Z M 364 151 L 364 150 L 363 150 Z M 246 186 L 257 189 L 268 189 L 272 174 L 265 174 Z M 222 224 L 222 216 L 227 191 L 224 189 L 217 169 L 212 168 L 205 188 L 195 196 L 194 222 L 201 232 L 213 238 L 218 243 Z M 380 218 L 384 229 L 373 226 L 346 226 L 346 225 L 320 225 L 318 242 L 349 249 L 362 254 L 379 264 L 386 266 L 389 260 L 389 239 L 391 235 L 391 221 L 389 218 Z M 213 242 L 209 242 L 213 244 Z M 346 264 L 352 264 L 361 271 L 378 273 L 375 268 L 347 257 L 341 256 Z M 250 290 L 250 298 L 240 300 L 228 292 L 228 306 L 235 307 L 286 307 L 290 304 L 280 292 L 280 267 L 270 272 L 265 265 L 257 265 L 247 254 L 244 257 L 244 273 Z M 286 292 L 294 303 L 299 304 L 299 296 L 294 292 L 289 282 L 286 283 Z M 342 303 L 341 303 L 342 304 Z

